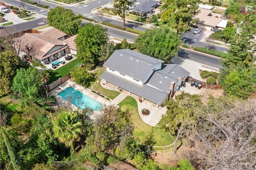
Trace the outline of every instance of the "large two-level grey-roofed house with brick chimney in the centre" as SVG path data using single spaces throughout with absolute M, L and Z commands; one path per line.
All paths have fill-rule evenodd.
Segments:
M 178 91 L 190 74 L 177 64 L 138 53 L 118 49 L 104 63 L 101 79 L 158 105 Z

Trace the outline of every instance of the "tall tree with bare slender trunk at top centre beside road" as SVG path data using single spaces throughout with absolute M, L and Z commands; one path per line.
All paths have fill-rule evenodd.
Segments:
M 123 28 L 125 29 L 125 13 L 131 8 L 134 4 L 134 0 L 114 0 L 113 12 L 118 14 L 123 19 Z

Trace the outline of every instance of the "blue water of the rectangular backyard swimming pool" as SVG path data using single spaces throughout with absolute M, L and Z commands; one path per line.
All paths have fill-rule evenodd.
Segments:
M 90 107 L 95 111 L 99 111 L 103 106 L 101 103 L 84 95 L 83 93 L 81 93 L 80 91 L 77 91 L 72 87 L 68 87 L 64 91 L 60 92 L 58 95 L 63 99 L 65 99 L 66 101 L 72 100 L 72 103 L 76 107 L 79 107 L 80 105 L 80 109 L 85 109 L 86 107 Z

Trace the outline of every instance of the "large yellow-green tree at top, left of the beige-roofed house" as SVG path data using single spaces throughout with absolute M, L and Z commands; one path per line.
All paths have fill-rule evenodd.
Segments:
M 161 21 L 175 28 L 177 34 L 190 30 L 197 22 L 199 0 L 171 0 L 171 5 L 162 12 Z

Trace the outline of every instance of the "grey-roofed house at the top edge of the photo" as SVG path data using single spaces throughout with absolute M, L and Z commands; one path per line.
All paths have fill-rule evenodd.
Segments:
M 158 7 L 158 1 L 148 0 L 143 3 L 136 2 L 134 3 L 134 7 L 130 9 L 132 12 L 136 12 L 140 16 L 144 16 L 144 14 L 151 13 L 152 10 Z

